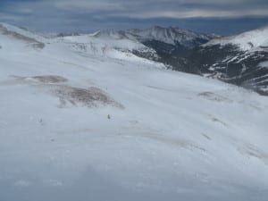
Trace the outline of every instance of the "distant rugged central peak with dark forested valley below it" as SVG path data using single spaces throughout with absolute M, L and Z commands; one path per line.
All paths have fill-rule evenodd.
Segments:
M 156 62 L 164 63 L 169 68 L 177 71 L 191 71 L 186 63 L 186 57 L 191 53 L 192 49 L 205 44 L 214 35 L 200 34 L 194 31 L 180 28 L 162 28 L 152 27 L 150 29 L 129 29 L 120 31 L 99 31 L 95 34 L 96 38 L 102 39 L 130 39 L 137 41 L 144 46 L 155 51 L 140 52 L 135 48 L 133 54 L 139 57 L 147 58 Z

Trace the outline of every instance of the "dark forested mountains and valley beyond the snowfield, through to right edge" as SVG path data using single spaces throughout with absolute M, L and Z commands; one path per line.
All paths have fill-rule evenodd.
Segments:
M 175 71 L 195 73 L 268 94 L 268 28 L 229 38 L 197 34 L 178 28 L 153 27 L 127 31 L 103 31 L 97 38 L 129 38 L 155 50 L 131 52 Z M 149 51 L 154 52 L 154 51 Z

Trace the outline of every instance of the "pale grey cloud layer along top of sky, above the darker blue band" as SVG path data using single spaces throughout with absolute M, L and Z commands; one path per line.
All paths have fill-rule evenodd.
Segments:
M 59 0 L 54 6 L 71 12 L 139 19 L 268 16 L 268 4 L 264 0 Z

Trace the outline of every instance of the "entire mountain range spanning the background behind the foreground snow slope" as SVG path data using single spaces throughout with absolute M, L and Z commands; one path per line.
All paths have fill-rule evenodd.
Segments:
M 253 89 L 263 95 L 268 93 L 267 27 L 229 38 L 157 26 L 54 38 L 8 24 L 2 24 L 0 31 L 1 29 L 5 32 L 4 35 L 27 41 L 27 46 L 38 49 L 46 44 L 60 43 L 85 54 L 102 54 L 117 59 L 120 59 L 121 53 L 131 54 L 132 58 L 163 63 L 166 68 L 175 71 L 213 77 Z M 210 38 L 214 39 L 209 40 Z

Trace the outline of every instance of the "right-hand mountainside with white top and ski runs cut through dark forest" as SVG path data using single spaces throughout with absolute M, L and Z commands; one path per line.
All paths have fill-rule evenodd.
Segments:
M 200 74 L 268 95 L 268 28 L 214 39 L 188 57 Z

